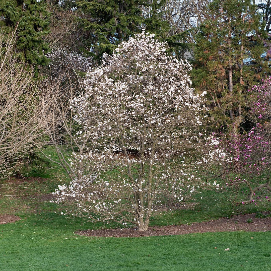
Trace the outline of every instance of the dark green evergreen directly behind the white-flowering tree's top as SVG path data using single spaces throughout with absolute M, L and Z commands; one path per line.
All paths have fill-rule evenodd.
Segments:
M 164 0 L 83 0 L 77 2 L 79 18 L 86 33 L 85 42 L 96 55 L 111 53 L 122 41 L 127 41 L 143 29 L 166 38 L 170 26 L 163 19 Z

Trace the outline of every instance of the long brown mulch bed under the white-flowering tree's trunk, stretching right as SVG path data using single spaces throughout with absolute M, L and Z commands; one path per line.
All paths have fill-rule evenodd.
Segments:
M 252 222 L 248 223 L 247 221 Z M 255 218 L 255 214 L 234 216 L 230 219 L 220 218 L 214 221 L 193 223 L 191 225 L 149 227 L 147 231 L 135 228 L 76 231 L 76 234 L 94 237 L 143 237 L 160 235 L 180 235 L 188 233 L 205 233 L 221 231 L 271 231 L 271 217 Z

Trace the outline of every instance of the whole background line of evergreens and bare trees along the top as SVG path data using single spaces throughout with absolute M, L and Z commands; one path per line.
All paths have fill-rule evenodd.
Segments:
M 62 92 L 71 82 L 80 88 L 104 53 L 145 30 L 193 64 L 191 80 L 207 91 L 213 131 L 253 126 L 247 89 L 270 74 L 269 0 L 10 0 L 0 2 L 0 14 L 2 50 L 14 33 L 15 58 L 36 82 L 61 81 Z

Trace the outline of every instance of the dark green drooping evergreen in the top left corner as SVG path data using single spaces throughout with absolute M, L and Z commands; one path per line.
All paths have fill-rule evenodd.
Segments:
M 8 32 L 17 28 L 16 50 L 29 64 L 45 65 L 49 50 L 42 37 L 49 33 L 49 14 L 44 0 L 9 0 L 0 2 L 1 25 Z

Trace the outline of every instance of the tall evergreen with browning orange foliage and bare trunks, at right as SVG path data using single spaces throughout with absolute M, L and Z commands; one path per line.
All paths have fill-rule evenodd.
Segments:
M 236 134 L 246 125 L 247 89 L 270 72 L 265 22 L 250 0 L 214 0 L 208 16 L 196 36 L 192 79 L 209 95 L 214 124 Z

